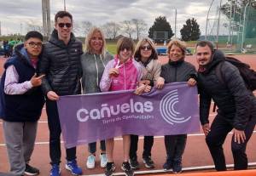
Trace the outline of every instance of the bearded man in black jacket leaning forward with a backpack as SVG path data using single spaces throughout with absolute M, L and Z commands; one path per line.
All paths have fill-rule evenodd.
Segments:
M 212 43 L 201 41 L 196 44 L 196 60 L 199 64 L 200 119 L 215 168 L 226 170 L 222 145 L 233 129 L 231 149 L 234 168 L 247 169 L 245 150 L 255 127 L 256 99 L 247 89 L 236 66 L 224 61 L 224 54 L 214 51 Z M 216 75 L 220 64 L 224 83 Z M 218 106 L 218 114 L 210 128 L 208 116 L 212 99 Z

